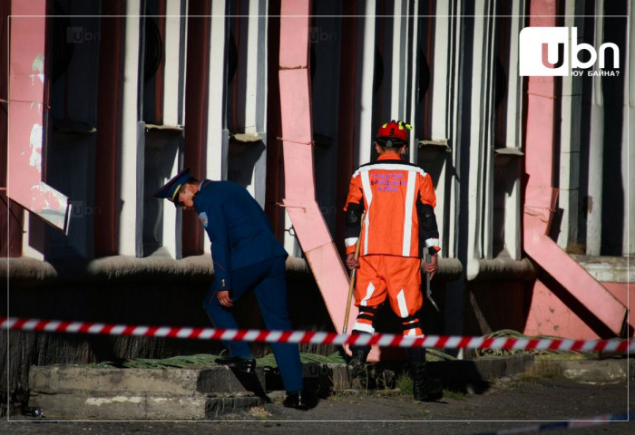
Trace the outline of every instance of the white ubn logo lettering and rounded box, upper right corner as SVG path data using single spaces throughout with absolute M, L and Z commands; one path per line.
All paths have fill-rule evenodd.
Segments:
M 567 76 L 573 68 L 591 68 L 598 60 L 602 69 L 607 48 L 613 50 L 612 67 L 620 68 L 620 49 L 616 44 L 602 43 L 596 51 L 589 43 L 578 43 L 576 27 L 525 27 L 519 45 L 519 70 L 523 76 Z M 589 60 L 580 60 L 582 52 L 589 53 Z

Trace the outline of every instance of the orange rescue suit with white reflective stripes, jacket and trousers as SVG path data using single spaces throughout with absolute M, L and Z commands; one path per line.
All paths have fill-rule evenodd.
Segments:
M 404 335 L 423 335 L 417 312 L 423 304 L 423 245 L 437 247 L 438 231 L 422 229 L 417 210 L 435 208 L 432 179 L 396 154 L 380 155 L 357 169 L 350 180 L 344 208 L 366 210 L 361 230 L 355 300 L 359 307 L 353 330 L 374 333 L 377 307 L 386 300 L 402 319 Z M 355 252 L 360 226 L 347 223 L 347 255 Z M 420 240 L 420 237 L 425 237 Z

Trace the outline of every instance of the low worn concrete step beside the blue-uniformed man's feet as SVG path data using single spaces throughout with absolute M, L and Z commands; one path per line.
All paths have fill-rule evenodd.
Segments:
M 266 400 L 265 373 L 187 369 L 31 367 L 29 406 L 54 420 L 209 420 Z

